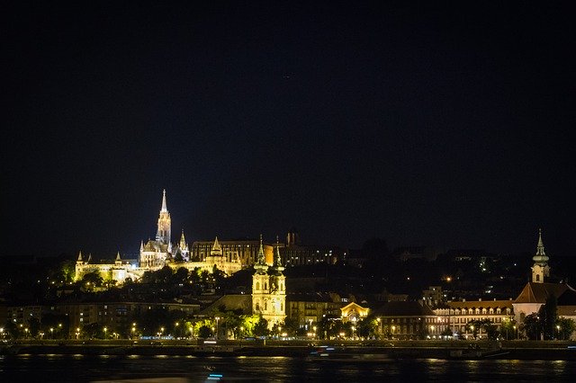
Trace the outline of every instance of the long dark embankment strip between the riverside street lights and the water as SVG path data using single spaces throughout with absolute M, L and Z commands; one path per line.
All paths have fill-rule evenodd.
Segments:
M 306 357 L 320 346 L 334 346 L 353 353 L 386 354 L 393 359 L 506 359 L 576 361 L 576 342 L 509 341 L 82 341 L 49 340 L 7 343 L 3 354 L 85 355 L 190 355 Z

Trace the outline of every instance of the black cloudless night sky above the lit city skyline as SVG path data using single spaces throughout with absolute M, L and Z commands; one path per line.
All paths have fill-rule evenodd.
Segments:
M 0 253 L 574 255 L 570 4 L 4 2 Z

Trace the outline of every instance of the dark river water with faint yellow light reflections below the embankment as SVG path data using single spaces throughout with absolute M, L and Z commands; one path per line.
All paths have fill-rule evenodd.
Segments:
M 220 378 L 221 376 L 221 378 Z M 292 357 L 0 356 L 0 382 L 576 381 L 576 361 L 305 361 Z

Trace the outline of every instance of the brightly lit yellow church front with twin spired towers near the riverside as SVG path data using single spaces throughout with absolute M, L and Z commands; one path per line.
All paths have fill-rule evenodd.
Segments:
M 276 239 L 276 242 L 278 240 Z M 284 322 L 286 317 L 286 277 L 280 258 L 279 247 L 272 267 L 265 260 L 262 236 L 258 249 L 255 273 L 252 276 L 252 312 L 260 314 L 268 322 L 268 328 Z

